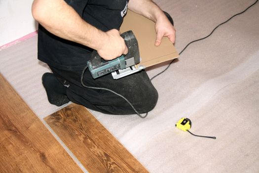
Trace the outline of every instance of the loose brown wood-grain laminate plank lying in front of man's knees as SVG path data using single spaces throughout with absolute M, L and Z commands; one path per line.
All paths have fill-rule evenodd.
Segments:
M 90 173 L 148 173 L 85 107 L 71 104 L 45 121 Z

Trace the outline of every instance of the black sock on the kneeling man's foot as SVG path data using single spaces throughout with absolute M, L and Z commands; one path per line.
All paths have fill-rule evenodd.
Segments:
M 59 82 L 53 73 L 44 73 L 42 75 L 42 84 L 51 104 L 62 106 L 70 101 L 66 95 L 67 88 Z

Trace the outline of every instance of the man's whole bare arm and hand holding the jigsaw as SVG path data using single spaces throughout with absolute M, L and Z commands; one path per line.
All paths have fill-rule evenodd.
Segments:
M 110 60 L 128 52 L 115 29 L 103 32 L 85 22 L 64 0 L 34 0 L 33 17 L 50 33 L 96 49 Z

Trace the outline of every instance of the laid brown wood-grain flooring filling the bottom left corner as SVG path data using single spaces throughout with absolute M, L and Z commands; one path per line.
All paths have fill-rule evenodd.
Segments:
M 81 173 L 81 169 L 0 75 L 0 173 Z

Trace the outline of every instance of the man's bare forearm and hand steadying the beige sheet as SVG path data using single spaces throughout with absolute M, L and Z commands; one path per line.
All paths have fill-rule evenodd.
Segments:
M 129 0 L 128 8 L 155 22 L 156 46 L 160 45 L 163 37 L 168 37 L 172 43 L 175 43 L 175 28 L 152 0 Z

